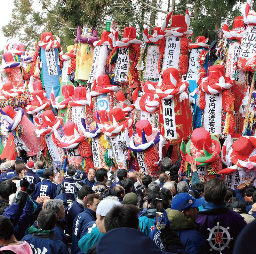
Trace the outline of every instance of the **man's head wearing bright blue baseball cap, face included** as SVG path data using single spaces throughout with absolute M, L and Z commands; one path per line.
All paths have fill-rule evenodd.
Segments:
M 172 199 L 172 209 L 184 213 L 186 216 L 196 221 L 198 216 L 198 206 L 204 203 L 204 198 L 196 199 L 191 194 L 183 192 L 178 193 Z

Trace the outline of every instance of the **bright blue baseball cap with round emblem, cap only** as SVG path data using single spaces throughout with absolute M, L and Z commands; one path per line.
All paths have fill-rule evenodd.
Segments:
M 204 203 L 204 198 L 194 198 L 187 192 L 179 193 L 172 199 L 171 207 L 174 210 L 183 211 L 189 207 L 198 207 Z

